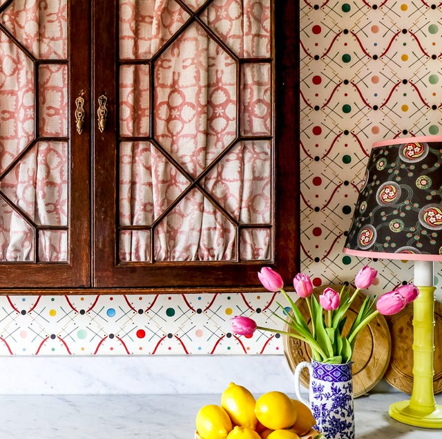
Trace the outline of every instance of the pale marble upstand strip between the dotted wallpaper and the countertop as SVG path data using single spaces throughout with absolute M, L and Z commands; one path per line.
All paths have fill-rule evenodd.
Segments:
M 222 393 L 231 381 L 294 391 L 284 355 L 0 357 L 0 394 Z

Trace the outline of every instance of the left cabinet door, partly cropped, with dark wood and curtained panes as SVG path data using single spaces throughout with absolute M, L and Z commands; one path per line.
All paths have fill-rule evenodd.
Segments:
M 89 1 L 0 1 L 0 288 L 90 285 Z

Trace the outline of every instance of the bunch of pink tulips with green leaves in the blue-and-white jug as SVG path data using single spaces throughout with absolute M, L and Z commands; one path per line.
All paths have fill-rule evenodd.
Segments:
M 352 360 L 352 354 L 356 337 L 367 326 L 369 321 L 376 315 L 393 315 L 403 310 L 407 303 L 416 299 L 419 289 L 408 283 L 398 286 L 380 297 L 365 297 L 361 310 L 347 333 L 343 333 L 346 320 L 346 313 L 349 306 L 360 290 L 365 290 L 372 285 L 378 272 L 368 265 L 361 268 L 356 274 L 354 284 L 356 290 L 350 295 L 350 288 L 343 286 L 340 292 L 333 288 L 325 288 L 319 300 L 312 294 L 313 284 L 306 274 L 296 274 L 293 279 L 294 288 L 299 297 L 307 301 L 311 324 L 308 325 L 296 303 L 287 295 L 284 290 L 284 282 L 278 272 L 269 267 L 264 267 L 258 272 L 262 286 L 271 292 L 280 291 L 291 305 L 291 312 L 285 312 L 285 307 L 278 303 L 282 309 L 282 316 L 275 314 L 293 330 L 285 332 L 282 330 L 264 328 L 258 326 L 256 321 L 249 317 L 236 316 L 231 319 L 233 333 L 238 335 L 252 335 L 257 329 L 267 330 L 272 333 L 280 333 L 289 337 L 296 337 L 311 348 L 312 358 L 318 362 L 341 364 Z

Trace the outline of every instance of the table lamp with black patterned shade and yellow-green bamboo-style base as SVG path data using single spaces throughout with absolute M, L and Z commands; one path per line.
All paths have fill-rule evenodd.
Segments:
M 373 144 L 344 253 L 414 261 L 413 387 L 390 416 L 405 424 L 442 428 L 434 377 L 434 261 L 442 261 L 442 136 Z M 442 342 L 439 340 L 439 342 Z M 442 346 L 441 346 L 442 348 Z

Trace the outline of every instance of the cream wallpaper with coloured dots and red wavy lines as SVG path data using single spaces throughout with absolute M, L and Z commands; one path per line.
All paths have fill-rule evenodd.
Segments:
M 315 286 L 352 281 L 368 263 L 342 249 L 372 143 L 442 134 L 441 59 L 439 3 L 300 1 L 302 132 L 293 147 L 301 157 L 301 268 Z M 412 263 L 370 265 L 379 272 L 373 293 L 412 279 Z M 278 335 L 238 337 L 229 323 L 245 315 L 280 329 L 277 300 L 270 292 L 2 296 L 0 355 L 282 353 Z

